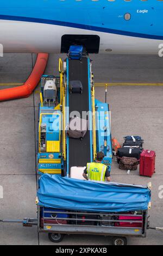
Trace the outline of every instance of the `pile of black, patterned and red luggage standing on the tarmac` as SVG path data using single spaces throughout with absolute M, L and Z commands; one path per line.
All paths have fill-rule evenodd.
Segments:
M 140 164 L 140 175 L 152 177 L 155 173 L 155 152 L 143 149 L 140 136 L 126 136 L 122 148 L 117 148 L 117 162 L 123 170 L 136 170 Z

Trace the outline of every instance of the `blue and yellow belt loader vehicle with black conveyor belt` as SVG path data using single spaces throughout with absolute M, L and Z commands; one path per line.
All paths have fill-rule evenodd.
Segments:
M 112 143 L 109 105 L 95 99 L 92 65 L 83 47 L 72 46 L 62 64 L 60 77 L 41 79 L 39 111 L 38 173 L 71 176 L 71 168 L 86 166 L 96 160 L 98 151 L 104 152 L 103 163 L 111 170 Z M 78 48 L 82 50 L 78 51 Z M 74 51 L 72 51 L 74 53 Z M 75 84 L 78 87 L 72 90 Z M 89 123 L 81 140 L 67 136 L 67 127 L 74 116 Z

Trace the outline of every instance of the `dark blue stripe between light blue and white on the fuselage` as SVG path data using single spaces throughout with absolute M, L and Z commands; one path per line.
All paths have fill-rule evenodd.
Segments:
M 57 26 L 64 26 L 64 27 L 71 27 L 71 28 L 86 29 L 86 30 L 89 30 L 89 31 L 97 31 L 97 32 L 111 33 L 111 34 L 117 34 L 117 35 L 134 36 L 134 37 L 137 37 L 137 38 L 163 40 L 163 36 L 161 36 L 161 35 L 142 34 L 142 33 L 121 31 L 121 30 L 117 30 L 117 29 L 110 29 L 110 28 L 104 28 L 104 27 L 83 25 L 83 24 L 79 24 L 79 23 L 57 21 L 57 20 L 47 20 L 47 19 L 38 19 L 38 18 L 33 18 L 33 17 L 0 15 L 0 20 L 35 22 L 35 23 L 43 23 L 43 24 L 49 24 L 49 25 L 57 25 Z

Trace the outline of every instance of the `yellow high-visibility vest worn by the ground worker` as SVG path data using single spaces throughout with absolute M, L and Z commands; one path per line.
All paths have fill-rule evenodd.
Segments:
M 105 181 L 106 166 L 103 163 L 87 163 L 87 175 L 89 180 Z

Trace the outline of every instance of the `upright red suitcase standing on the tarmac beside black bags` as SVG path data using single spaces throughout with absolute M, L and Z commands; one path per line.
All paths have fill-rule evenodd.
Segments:
M 152 177 L 155 173 L 155 152 L 152 150 L 143 150 L 140 154 L 139 173 L 141 176 Z

